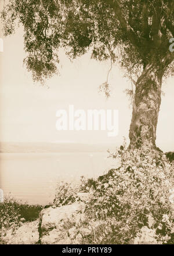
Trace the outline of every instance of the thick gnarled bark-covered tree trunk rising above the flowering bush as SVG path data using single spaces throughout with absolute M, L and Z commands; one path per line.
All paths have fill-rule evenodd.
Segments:
M 163 74 L 157 64 L 148 64 L 137 80 L 129 129 L 130 146 L 140 147 L 142 143 L 155 146 Z

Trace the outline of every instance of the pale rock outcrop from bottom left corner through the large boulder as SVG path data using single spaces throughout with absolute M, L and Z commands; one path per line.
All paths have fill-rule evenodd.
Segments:
M 46 205 L 40 212 L 40 218 L 33 222 L 24 222 L 21 226 L 4 230 L 0 234 L 3 244 L 72 244 L 80 243 L 82 235 L 77 226 L 84 220 L 85 202 L 89 193 L 78 193 L 79 201 L 73 204 L 55 207 Z M 82 233 L 87 232 L 86 229 Z M 89 230 L 88 230 L 89 232 Z

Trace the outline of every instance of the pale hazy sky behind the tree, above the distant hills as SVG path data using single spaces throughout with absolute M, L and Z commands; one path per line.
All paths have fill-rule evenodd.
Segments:
M 0 37 L 3 38 L 2 33 Z M 119 145 L 123 136 L 128 139 L 132 109 L 124 90 L 131 82 L 124 78 L 121 68 L 114 66 L 110 75 L 111 98 L 99 93 L 99 85 L 106 81 L 109 62 L 100 63 L 86 54 L 73 63 L 60 52 L 60 76 L 47 82 L 49 88 L 34 84 L 31 74 L 23 66 L 23 31 L 20 28 L 11 37 L 3 38 L 0 52 L 0 136 L 3 141 L 20 142 L 115 142 Z M 157 146 L 173 150 L 174 78 L 163 85 L 165 96 L 157 127 Z M 67 109 L 118 109 L 119 134 L 108 138 L 107 131 L 56 131 L 56 111 Z

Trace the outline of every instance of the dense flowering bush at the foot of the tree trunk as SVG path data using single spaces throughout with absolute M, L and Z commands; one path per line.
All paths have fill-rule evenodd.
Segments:
M 100 240 L 130 243 L 147 226 L 155 230 L 157 243 L 167 243 L 173 224 L 169 201 L 173 165 L 161 151 L 147 146 L 126 149 L 124 145 L 112 156 L 120 158 L 121 167 L 96 182 L 86 206 L 86 214 L 104 221 L 102 230 L 107 233 L 100 233 Z

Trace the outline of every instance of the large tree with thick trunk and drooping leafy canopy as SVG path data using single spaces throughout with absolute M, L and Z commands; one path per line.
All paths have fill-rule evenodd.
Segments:
M 131 145 L 155 146 L 162 78 L 174 70 L 173 0 L 10 0 L 2 18 L 5 35 L 16 21 L 23 25 L 34 80 L 56 73 L 60 48 L 72 58 L 92 49 L 97 60 L 121 63 L 135 84 Z

